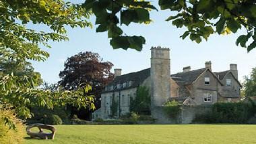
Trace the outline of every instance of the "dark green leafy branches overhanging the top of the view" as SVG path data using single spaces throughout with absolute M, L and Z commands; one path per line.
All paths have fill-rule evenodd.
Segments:
M 240 35 L 236 45 L 247 48 L 249 52 L 256 46 L 256 3 L 254 0 L 159 0 L 161 10 L 169 9 L 172 25 L 185 27 L 187 31 L 181 35 L 200 43 L 213 33 L 236 33 L 244 27 L 247 33 Z M 135 0 L 86 0 L 86 9 L 96 15 L 96 32 L 108 31 L 110 44 L 116 48 L 133 48 L 141 50 L 146 40 L 142 36 L 127 36 L 119 24 L 150 23 L 150 11 L 156 10 L 150 1 Z M 120 15 L 120 17 L 118 17 Z M 247 42 L 251 42 L 247 46 Z

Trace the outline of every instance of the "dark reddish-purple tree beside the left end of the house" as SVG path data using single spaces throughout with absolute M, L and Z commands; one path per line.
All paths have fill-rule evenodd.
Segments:
M 63 86 L 65 90 L 76 90 L 89 84 L 92 86 L 89 94 L 95 96 L 96 109 L 100 108 L 100 92 L 114 78 L 113 73 L 110 72 L 113 64 L 103 62 L 97 53 L 80 52 L 67 58 L 64 66 L 64 70 L 59 73 L 61 78 L 59 85 Z M 90 119 L 86 115 L 92 113 L 86 109 L 79 111 L 79 113 L 73 112 L 82 119 Z

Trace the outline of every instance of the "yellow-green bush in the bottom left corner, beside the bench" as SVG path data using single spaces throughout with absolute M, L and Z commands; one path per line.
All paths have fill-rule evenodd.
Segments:
M 8 117 L 15 124 L 16 130 L 9 129 L 3 120 Z M 20 144 L 24 141 L 24 125 L 13 115 L 12 111 L 0 110 L 0 143 Z

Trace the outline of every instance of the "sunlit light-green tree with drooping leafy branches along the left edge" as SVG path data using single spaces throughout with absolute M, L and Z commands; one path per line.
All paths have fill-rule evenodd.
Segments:
M 28 64 L 28 60 L 44 61 L 49 57 L 40 45 L 50 48 L 49 41 L 67 40 L 65 25 L 91 26 L 86 21 L 90 11 L 61 0 L 0 1 L 0 7 L 0 108 L 13 109 L 24 119 L 32 117 L 28 109 L 31 106 L 53 109 L 69 103 L 94 109 L 94 98 L 84 96 L 90 86 L 76 91 L 42 90 L 38 88 L 40 74 Z M 28 23 L 44 25 L 48 30 L 28 29 Z M 5 117 L 5 121 L 11 125 L 11 119 Z

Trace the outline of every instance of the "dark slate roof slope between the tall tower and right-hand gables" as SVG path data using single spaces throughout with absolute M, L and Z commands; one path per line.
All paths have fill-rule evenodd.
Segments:
M 180 72 L 177 74 L 172 74 L 170 77 L 172 77 L 175 81 L 181 81 L 184 85 L 191 84 L 194 82 L 200 74 L 205 72 L 206 68 L 201 68 L 198 70 L 191 70 L 189 72 Z

